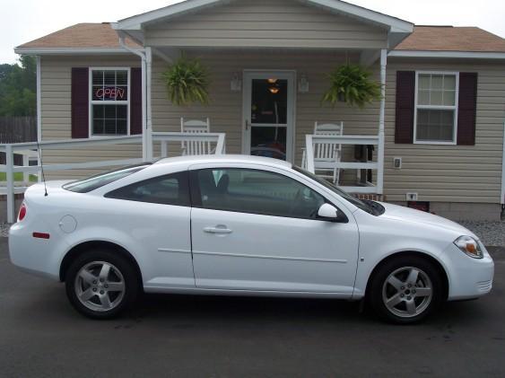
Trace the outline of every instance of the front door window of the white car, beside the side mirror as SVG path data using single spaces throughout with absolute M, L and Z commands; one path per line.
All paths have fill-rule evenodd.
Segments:
M 194 205 L 213 210 L 316 219 L 326 202 L 299 181 L 271 171 L 207 169 L 192 172 L 192 178 L 199 189 Z

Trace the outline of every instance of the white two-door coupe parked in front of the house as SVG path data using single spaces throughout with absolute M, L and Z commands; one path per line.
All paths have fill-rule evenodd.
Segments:
M 409 323 L 492 288 L 492 258 L 461 225 L 358 200 L 278 160 L 171 158 L 47 191 L 26 191 L 11 259 L 65 282 L 92 318 L 144 291 L 364 298 Z

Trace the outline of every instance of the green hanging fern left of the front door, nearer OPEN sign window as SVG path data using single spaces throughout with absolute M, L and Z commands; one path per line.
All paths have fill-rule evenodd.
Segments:
M 199 59 L 179 57 L 163 73 L 169 100 L 178 106 L 209 103 L 209 74 Z

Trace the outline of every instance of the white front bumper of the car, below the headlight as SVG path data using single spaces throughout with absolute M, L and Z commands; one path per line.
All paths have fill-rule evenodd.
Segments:
M 473 259 L 451 243 L 441 254 L 448 273 L 448 300 L 474 299 L 491 292 L 494 262 L 483 249 L 483 259 Z

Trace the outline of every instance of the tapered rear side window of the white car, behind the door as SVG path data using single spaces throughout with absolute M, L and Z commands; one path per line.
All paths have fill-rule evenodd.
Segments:
M 191 206 L 187 172 L 178 172 L 135 182 L 135 184 L 112 190 L 105 197 L 161 205 Z

